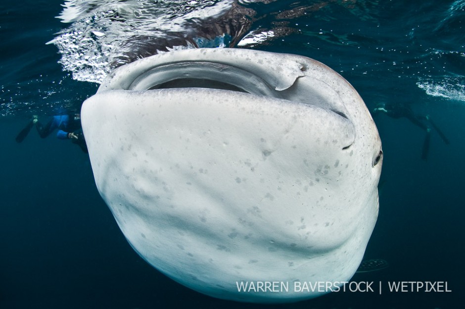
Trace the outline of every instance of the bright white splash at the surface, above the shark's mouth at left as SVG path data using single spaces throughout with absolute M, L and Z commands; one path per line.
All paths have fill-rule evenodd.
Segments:
M 224 14 L 233 2 L 69 0 L 57 18 L 71 25 L 48 44 L 58 48 L 73 79 L 100 83 L 115 66 L 130 62 L 124 60 L 128 53 L 194 48 L 187 39 L 197 37 L 192 24 Z

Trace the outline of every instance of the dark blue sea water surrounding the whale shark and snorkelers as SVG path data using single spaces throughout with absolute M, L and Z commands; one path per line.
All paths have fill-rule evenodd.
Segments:
M 160 1 L 162 2 L 162 1 Z M 384 151 L 380 212 L 366 258 L 389 262 L 353 281 L 447 281 L 450 293 L 332 293 L 279 306 L 239 304 L 168 279 L 129 246 L 93 182 L 89 158 L 31 131 L 33 114 L 77 111 L 97 85 L 63 71 L 55 45 L 70 26 L 61 0 L 0 4 L 0 308 L 462 308 L 464 278 L 465 1 L 254 3 L 252 29 L 288 34 L 254 49 L 315 58 L 344 76 L 372 110 L 402 103 L 450 140 L 405 118 L 376 115 Z M 348 5 L 350 3 L 351 5 Z M 317 5 L 317 6 L 312 6 Z M 293 18 L 279 12 L 312 7 Z M 316 9 L 318 7 L 318 9 Z M 255 17 L 257 17 L 255 16 Z

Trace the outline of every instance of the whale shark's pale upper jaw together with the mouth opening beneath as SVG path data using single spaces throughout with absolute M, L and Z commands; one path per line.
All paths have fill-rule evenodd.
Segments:
M 196 49 L 154 55 L 116 69 L 98 91 L 225 89 L 320 106 L 348 117 L 339 94 L 324 81 L 327 70 L 343 78 L 326 65 L 291 54 L 284 54 L 276 61 L 270 52 L 261 52 L 263 57 L 257 61 L 248 57 L 248 52 Z

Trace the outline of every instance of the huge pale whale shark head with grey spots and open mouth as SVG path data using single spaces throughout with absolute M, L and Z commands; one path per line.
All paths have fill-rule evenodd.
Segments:
M 157 54 L 113 71 L 81 115 L 123 234 L 181 284 L 294 302 L 329 291 L 293 282 L 356 272 L 378 213 L 381 142 L 358 93 L 326 65 L 239 49 Z

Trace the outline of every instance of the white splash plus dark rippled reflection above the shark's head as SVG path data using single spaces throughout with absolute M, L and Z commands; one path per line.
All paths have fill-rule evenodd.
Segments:
M 259 12 L 255 11 L 259 6 L 249 6 L 255 2 L 279 1 L 67 0 L 58 18 L 71 25 L 49 43 L 56 45 L 61 53 L 60 64 L 72 72 L 73 79 L 100 83 L 114 68 L 160 51 L 222 46 L 255 48 L 292 33 L 305 34 L 296 28 L 297 23 L 290 25 L 283 20 L 327 6 L 326 2 L 306 3 L 292 8 L 281 1 L 276 11 Z M 358 18 L 366 19 L 363 4 L 346 8 Z M 331 10 L 327 9 L 328 12 Z M 271 16 L 271 21 L 252 28 L 253 23 L 263 21 L 265 16 Z M 218 41 L 220 44 L 212 44 Z

